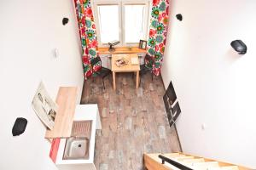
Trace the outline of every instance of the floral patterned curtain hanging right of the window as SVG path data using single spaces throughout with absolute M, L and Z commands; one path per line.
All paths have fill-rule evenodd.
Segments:
M 154 65 L 147 66 L 152 68 L 156 76 L 160 75 L 160 68 L 166 46 L 168 12 L 169 0 L 153 0 L 147 51 L 154 59 Z

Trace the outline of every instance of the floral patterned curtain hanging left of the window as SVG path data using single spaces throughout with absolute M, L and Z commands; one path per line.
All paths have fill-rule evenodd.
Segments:
M 90 77 L 92 72 L 100 68 L 100 64 L 94 68 L 90 66 L 90 60 L 97 56 L 96 26 L 93 19 L 90 0 L 74 0 L 79 33 L 83 49 L 84 78 Z M 93 71 L 92 71 L 93 69 Z

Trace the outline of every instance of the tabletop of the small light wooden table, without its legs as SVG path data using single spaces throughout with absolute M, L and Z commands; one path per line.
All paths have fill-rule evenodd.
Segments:
M 128 65 L 123 65 L 118 67 L 115 64 L 115 61 L 117 59 L 121 59 L 121 58 L 125 58 L 127 60 L 129 60 L 129 64 Z M 138 56 L 137 54 L 112 54 L 112 68 L 111 70 L 114 72 L 132 72 L 132 71 L 140 71 L 140 65 L 131 65 L 131 58 L 137 58 Z

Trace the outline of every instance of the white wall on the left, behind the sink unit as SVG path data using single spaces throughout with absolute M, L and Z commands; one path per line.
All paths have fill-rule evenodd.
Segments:
M 59 86 L 79 86 L 81 94 L 84 77 L 73 1 L 2 0 L 0 11 L 0 169 L 56 169 L 31 102 L 41 80 L 53 99 Z M 64 16 L 70 19 L 67 26 L 61 23 Z M 13 137 L 19 116 L 28 120 L 26 132 Z

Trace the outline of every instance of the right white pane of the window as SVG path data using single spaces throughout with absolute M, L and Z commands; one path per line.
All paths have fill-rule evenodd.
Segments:
M 145 5 L 125 5 L 125 42 L 143 39 Z

